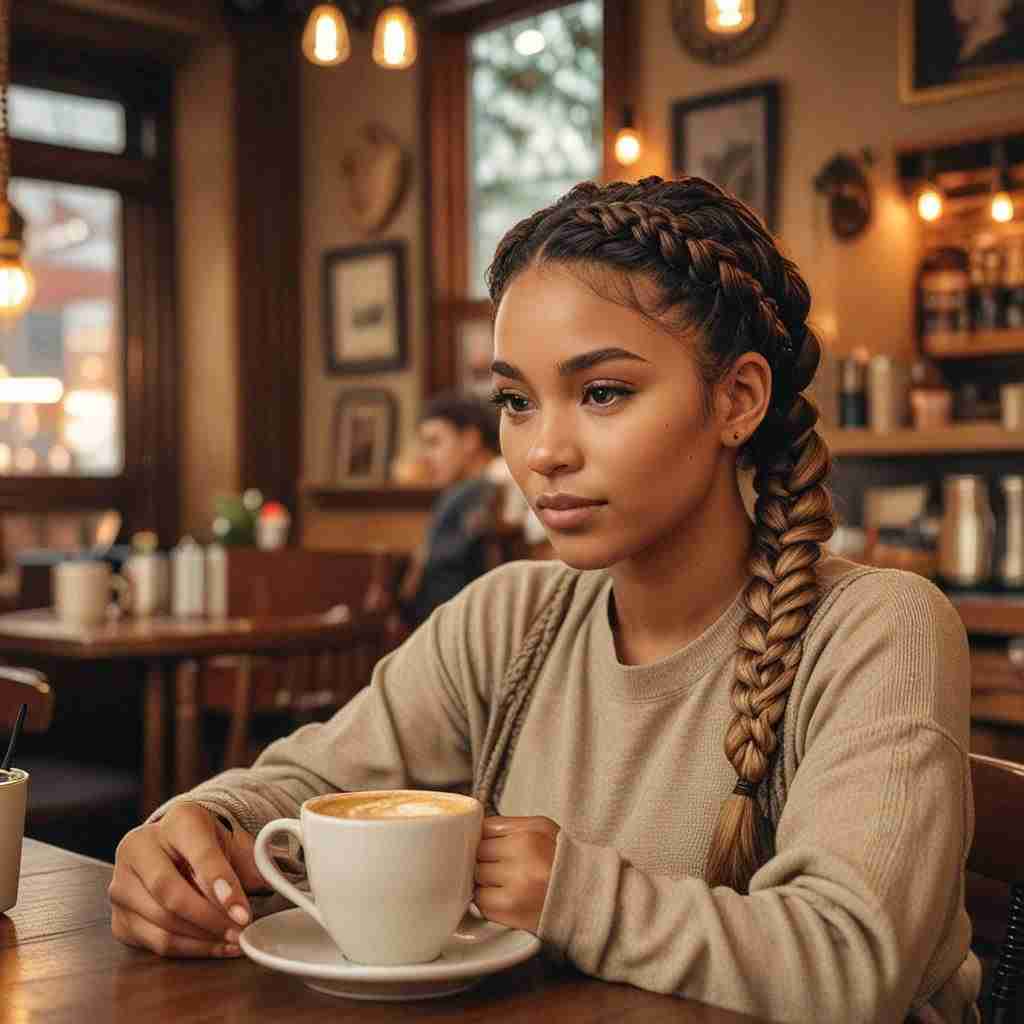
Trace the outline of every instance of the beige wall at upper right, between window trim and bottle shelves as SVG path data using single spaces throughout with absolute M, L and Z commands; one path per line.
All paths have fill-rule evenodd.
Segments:
M 636 102 L 646 151 L 637 176 L 671 173 L 673 100 L 764 79 L 781 83 L 780 202 L 777 230 L 811 287 L 812 319 L 835 328 L 836 351 L 909 351 L 919 231 L 895 179 L 898 143 L 968 132 L 1012 118 L 1024 89 L 942 103 L 899 99 L 898 9 L 893 0 L 788 0 L 774 35 L 750 58 L 716 68 L 676 42 L 670 0 L 635 5 Z M 837 152 L 876 155 L 874 217 L 850 243 L 835 241 L 825 201 L 811 184 Z

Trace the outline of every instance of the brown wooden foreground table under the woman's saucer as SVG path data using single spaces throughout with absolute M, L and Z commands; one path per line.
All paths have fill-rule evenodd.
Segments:
M 25 841 L 17 905 L 0 914 L 4 1021 L 47 1024 L 756 1024 L 699 1002 L 596 981 L 543 956 L 468 992 L 420 1002 L 365 1002 L 323 995 L 246 957 L 169 961 L 111 934 L 110 864 Z

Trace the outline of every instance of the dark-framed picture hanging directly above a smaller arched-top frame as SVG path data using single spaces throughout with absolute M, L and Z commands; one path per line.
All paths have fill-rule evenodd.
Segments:
M 328 374 L 400 370 L 408 350 L 406 243 L 332 249 L 323 257 Z

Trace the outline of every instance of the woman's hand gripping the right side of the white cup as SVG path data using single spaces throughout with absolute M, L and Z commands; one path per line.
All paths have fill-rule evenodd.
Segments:
M 551 818 L 483 819 L 473 902 L 484 918 L 537 934 L 559 830 Z

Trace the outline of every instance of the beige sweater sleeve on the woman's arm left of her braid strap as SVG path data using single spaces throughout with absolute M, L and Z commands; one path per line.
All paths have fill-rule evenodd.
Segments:
M 490 693 L 556 573 L 511 563 L 438 607 L 375 667 L 370 685 L 328 722 L 271 743 L 251 768 L 222 772 L 168 801 L 199 803 L 255 834 L 341 791 L 469 792 Z

